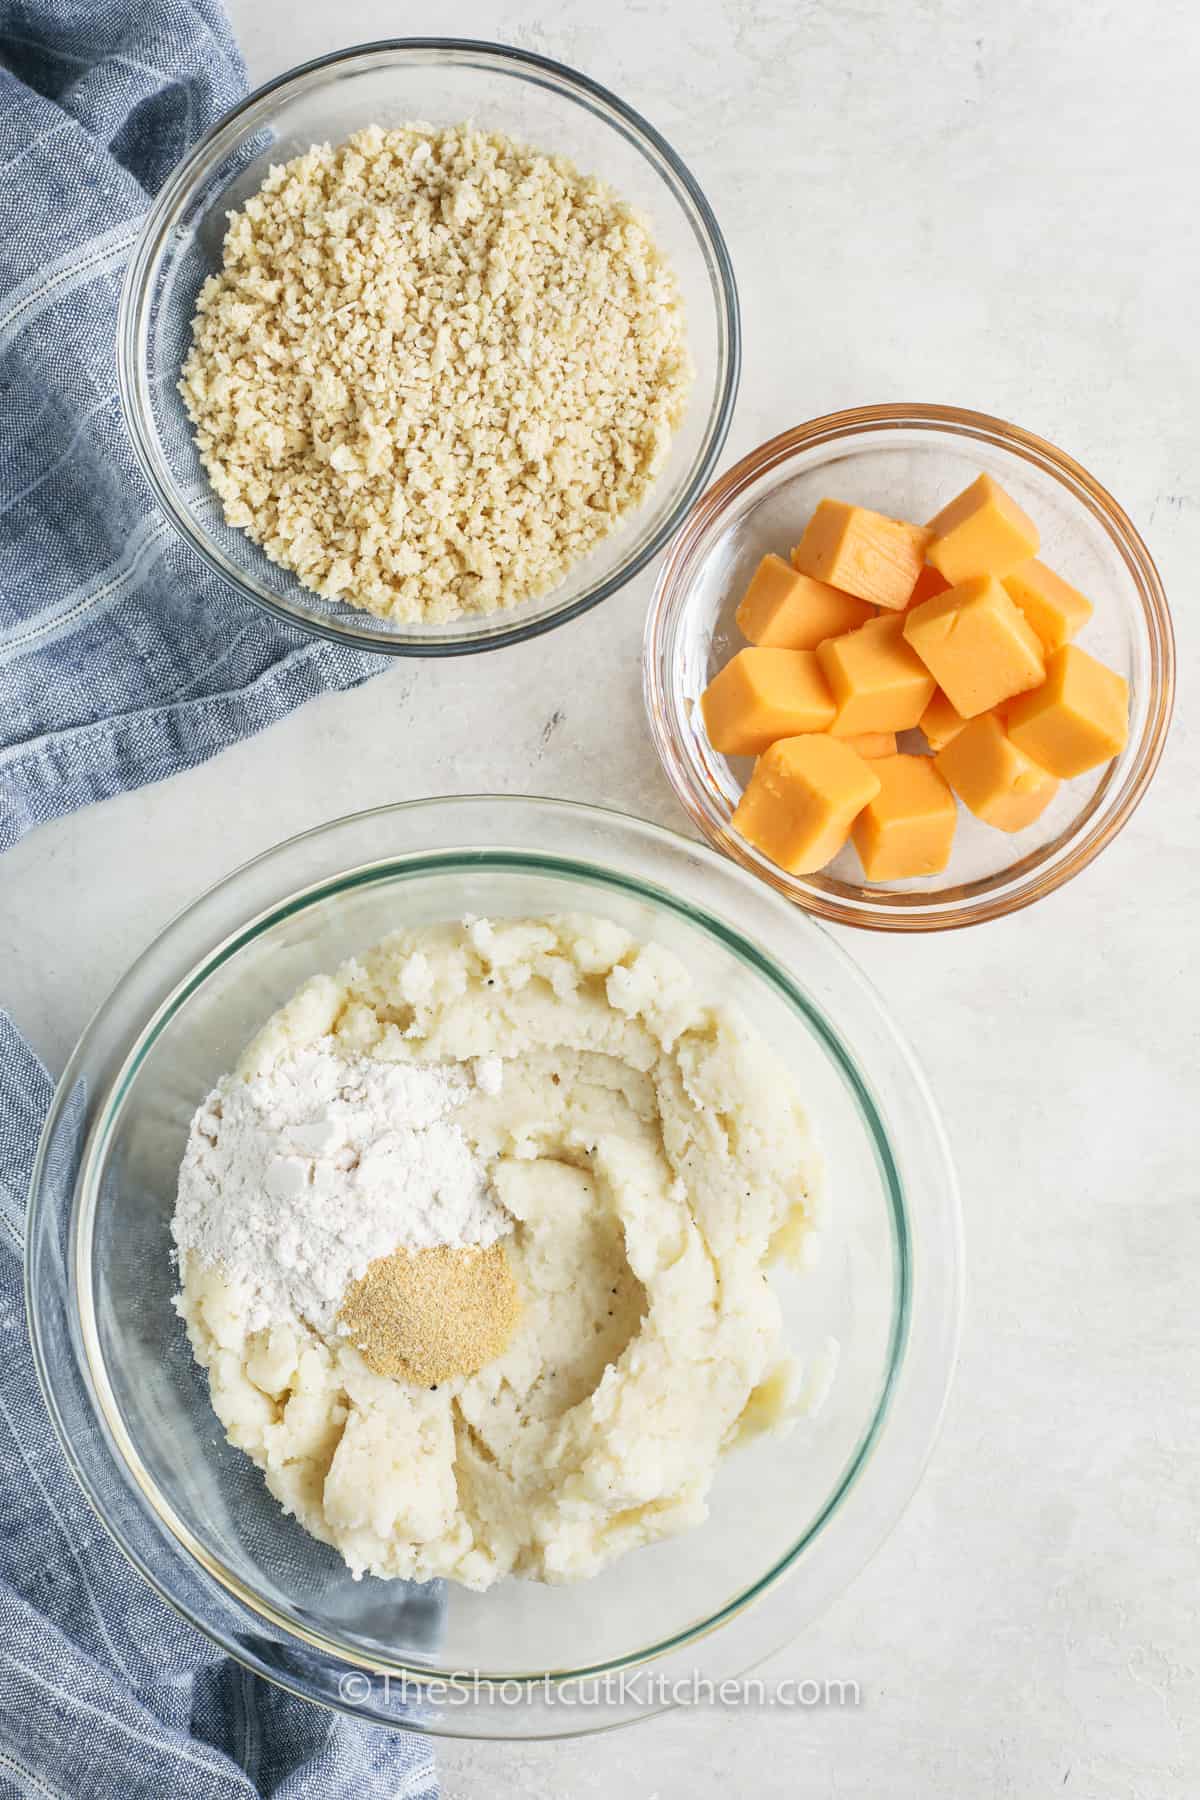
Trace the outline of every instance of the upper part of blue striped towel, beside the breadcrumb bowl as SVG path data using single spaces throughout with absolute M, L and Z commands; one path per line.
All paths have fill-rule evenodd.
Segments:
M 383 661 L 209 574 L 121 418 L 126 257 L 243 85 L 214 0 L 0 0 L 0 850 Z

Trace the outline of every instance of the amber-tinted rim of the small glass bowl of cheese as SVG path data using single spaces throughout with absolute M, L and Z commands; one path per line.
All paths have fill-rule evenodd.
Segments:
M 1011 864 L 984 882 L 970 904 L 946 904 L 937 895 L 880 896 L 869 904 L 842 900 L 824 887 L 804 886 L 802 877 L 792 877 L 757 857 L 729 830 L 712 808 L 705 783 L 698 778 L 693 758 L 673 729 L 671 706 L 660 670 L 660 650 L 667 625 L 684 612 L 689 601 L 691 558 L 709 527 L 736 504 L 741 493 L 761 475 L 792 461 L 799 452 L 869 439 L 882 430 L 918 430 L 948 437 L 977 439 L 1013 452 L 1060 486 L 1105 527 L 1114 549 L 1133 581 L 1139 601 L 1139 621 L 1150 648 L 1150 704 L 1146 724 L 1135 743 L 1112 808 L 1097 826 L 1087 830 L 1085 817 L 1067 837 L 1061 853 L 1040 869 L 1013 884 Z M 748 869 L 761 882 L 784 895 L 795 907 L 837 925 L 855 925 L 860 931 L 957 931 L 986 920 L 1004 918 L 1034 900 L 1054 893 L 1074 875 L 1079 875 L 1128 823 L 1159 767 L 1171 725 L 1175 702 L 1175 632 L 1162 578 L 1146 544 L 1124 508 L 1108 490 L 1065 450 L 1038 437 L 1034 432 L 1011 425 L 990 412 L 964 407 L 946 407 L 925 401 L 887 401 L 869 407 L 847 407 L 806 419 L 790 430 L 768 437 L 750 450 L 696 500 L 676 533 L 667 558 L 658 571 L 655 592 L 646 614 L 642 639 L 642 697 L 649 733 L 671 788 L 689 819 L 705 841 L 723 855 Z M 900 904 L 903 902 L 903 904 Z

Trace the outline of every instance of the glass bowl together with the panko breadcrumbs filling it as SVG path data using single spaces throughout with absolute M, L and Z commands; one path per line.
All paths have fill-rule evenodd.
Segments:
M 248 599 L 408 655 L 534 635 L 673 535 L 738 385 L 696 182 L 587 77 L 410 40 L 232 112 L 130 263 L 119 374 L 167 518 Z

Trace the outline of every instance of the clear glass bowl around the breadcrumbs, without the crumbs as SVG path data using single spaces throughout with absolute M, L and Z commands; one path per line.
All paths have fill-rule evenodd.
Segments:
M 176 392 L 194 301 L 219 265 L 225 214 L 268 166 L 367 124 L 473 121 L 565 155 L 649 216 L 687 308 L 694 382 L 687 414 L 644 506 L 551 594 L 484 617 L 396 623 L 322 599 L 227 526 Z M 236 106 L 180 164 L 151 207 L 126 274 L 117 374 L 139 461 L 167 518 L 246 599 L 358 650 L 453 655 L 563 625 L 613 594 L 667 542 L 702 491 L 729 430 L 739 371 L 734 272 L 712 211 L 671 146 L 631 106 L 543 56 L 455 38 L 399 38 L 304 63 Z

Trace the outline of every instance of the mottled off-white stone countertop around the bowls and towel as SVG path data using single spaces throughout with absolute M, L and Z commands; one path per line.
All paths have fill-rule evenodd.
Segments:
M 446 1800 L 1193 1800 L 1200 1793 L 1200 7 L 1193 0 L 626 0 L 434 11 L 232 0 L 252 79 L 390 32 L 500 38 L 646 113 L 741 284 L 725 463 L 813 414 L 1016 419 L 1126 506 L 1182 691 L 1123 837 L 1033 911 L 842 932 L 941 1100 L 968 1312 L 901 1525 L 766 1676 L 853 1710 L 696 1708 L 549 1746 L 448 1744 Z M 511 790 L 682 828 L 639 693 L 644 574 L 534 644 L 401 662 L 0 869 L 0 995 L 52 1069 L 149 936 L 356 806 Z M 554 718 L 558 725 L 552 725 Z

